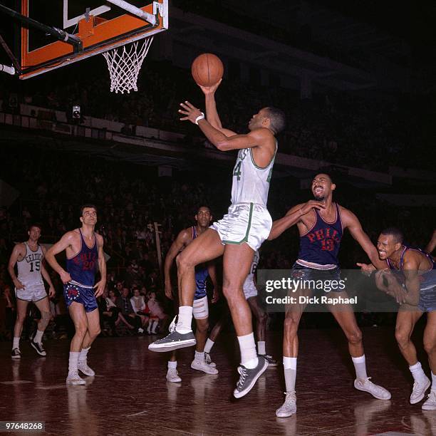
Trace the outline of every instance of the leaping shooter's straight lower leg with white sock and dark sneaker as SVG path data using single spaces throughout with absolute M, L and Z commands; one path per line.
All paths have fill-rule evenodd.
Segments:
M 254 250 L 248 244 L 228 244 L 224 249 L 222 291 L 229 305 L 241 351 L 241 365 L 238 368 L 241 376 L 233 393 L 236 398 L 249 393 L 268 367 L 268 362 L 256 354 L 251 310 L 242 288 L 253 256 Z

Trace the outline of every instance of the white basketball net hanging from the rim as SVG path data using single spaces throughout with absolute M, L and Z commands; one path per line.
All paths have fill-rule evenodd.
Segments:
M 137 91 L 137 76 L 152 41 L 153 37 L 149 36 L 103 53 L 108 63 L 111 92 L 123 94 Z

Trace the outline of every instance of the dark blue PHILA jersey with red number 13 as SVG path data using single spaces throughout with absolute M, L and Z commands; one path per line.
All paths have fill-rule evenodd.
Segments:
M 333 269 L 337 268 L 339 246 L 343 235 L 341 212 L 335 203 L 336 217 L 333 222 L 321 218 L 318 209 L 315 211 L 315 224 L 300 237 L 300 251 L 297 264 L 305 268 Z

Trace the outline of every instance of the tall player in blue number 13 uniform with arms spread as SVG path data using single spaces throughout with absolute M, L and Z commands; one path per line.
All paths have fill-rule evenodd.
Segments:
M 333 203 L 333 191 L 336 185 L 331 177 L 318 174 L 312 181 L 312 193 L 315 199 L 297 204 L 285 217 L 275 221 L 269 239 L 279 237 L 286 229 L 296 224 L 300 234 L 299 258 L 293 267 L 293 274 L 304 280 L 337 280 L 340 269 L 338 251 L 343 229 L 348 228 L 353 238 L 363 248 L 370 261 L 377 268 L 385 267 L 385 262 L 378 258 L 378 251 L 363 232 L 358 218 L 345 207 Z M 307 292 L 311 292 L 307 290 Z M 346 298 L 346 292 L 332 291 L 330 296 L 339 294 Z M 296 360 L 299 342 L 297 331 L 305 304 L 292 304 L 286 310 L 284 322 L 283 364 L 286 382 L 286 399 L 281 408 L 276 410 L 279 417 L 288 417 L 296 412 Z M 348 340 L 348 350 L 355 367 L 354 386 L 364 390 L 375 398 L 388 400 L 390 393 L 381 386 L 372 383 L 366 374 L 365 354 L 363 352 L 362 333 L 358 328 L 353 308 L 341 304 L 340 308 L 328 307 L 336 318 Z

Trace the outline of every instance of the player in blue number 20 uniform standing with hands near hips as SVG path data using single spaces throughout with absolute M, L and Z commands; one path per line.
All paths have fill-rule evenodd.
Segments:
M 87 355 L 91 343 L 100 333 L 100 316 L 96 297 L 103 294 L 106 283 L 106 263 L 103 253 L 103 237 L 94 232 L 97 209 L 92 204 L 81 207 L 81 229 L 67 232 L 46 254 L 46 260 L 61 276 L 63 295 L 73 319 L 76 333 L 71 340 L 68 376 L 66 383 L 84 385 L 78 375 L 95 375 L 89 368 Z M 56 261 L 56 254 L 66 251 L 66 271 Z M 100 281 L 95 284 L 97 266 Z

